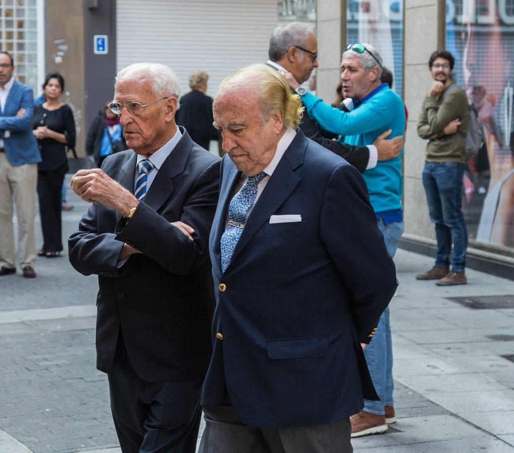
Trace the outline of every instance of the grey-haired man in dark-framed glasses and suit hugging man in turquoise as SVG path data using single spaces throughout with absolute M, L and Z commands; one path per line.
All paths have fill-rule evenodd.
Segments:
M 297 93 L 301 96 L 306 92 L 300 87 L 307 81 L 314 68 L 318 67 L 318 41 L 313 30 L 306 24 L 290 22 L 273 30 L 269 40 L 268 65 L 273 68 L 290 72 L 295 79 Z M 389 160 L 398 156 L 403 146 L 403 136 L 386 140 L 391 131 L 384 131 L 367 146 L 349 145 L 332 140 L 333 134 L 324 131 L 316 119 L 304 115 L 300 129 L 305 136 L 351 163 L 361 173 L 374 168 L 377 161 Z M 345 135 L 345 131 L 337 133 Z

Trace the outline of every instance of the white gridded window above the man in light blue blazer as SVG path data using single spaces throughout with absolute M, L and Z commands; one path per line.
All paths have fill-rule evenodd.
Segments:
M 0 1 L 0 49 L 14 58 L 17 80 L 37 91 L 36 70 L 36 0 Z

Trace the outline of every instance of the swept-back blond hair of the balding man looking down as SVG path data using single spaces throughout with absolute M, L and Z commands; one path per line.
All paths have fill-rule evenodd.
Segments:
M 279 71 L 264 64 L 246 66 L 225 78 L 219 86 L 217 97 L 242 86 L 254 88 L 258 93 L 262 124 L 274 111 L 281 110 L 284 114 L 284 128 L 298 127 L 305 108 L 300 96 L 291 91 Z

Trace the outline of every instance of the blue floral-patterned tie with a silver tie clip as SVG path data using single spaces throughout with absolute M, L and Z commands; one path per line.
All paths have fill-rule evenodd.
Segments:
M 228 226 L 221 239 L 222 272 L 225 272 L 230 264 L 237 241 L 245 228 L 246 212 L 255 201 L 257 186 L 265 176 L 264 172 L 249 176 L 228 206 Z

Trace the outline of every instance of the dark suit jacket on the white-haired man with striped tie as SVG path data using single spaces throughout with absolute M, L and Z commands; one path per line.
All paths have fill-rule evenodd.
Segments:
M 137 155 L 108 156 L 102 169 L 134 193 Z M 111 370 L 118 331 L 136 373 L 145 381 L 184 381 L 205 375 L 214 310 L 208 234 L 218 198 L 219 158 L 182 137 L 163 162 L 134 216 L 93 203 L 68 241 L 71 265 L 98 275 L 97 368 Z M 195 232 L 191 241 L 170 222 Z M 117 267 L 123 242 L 134 254 Z

